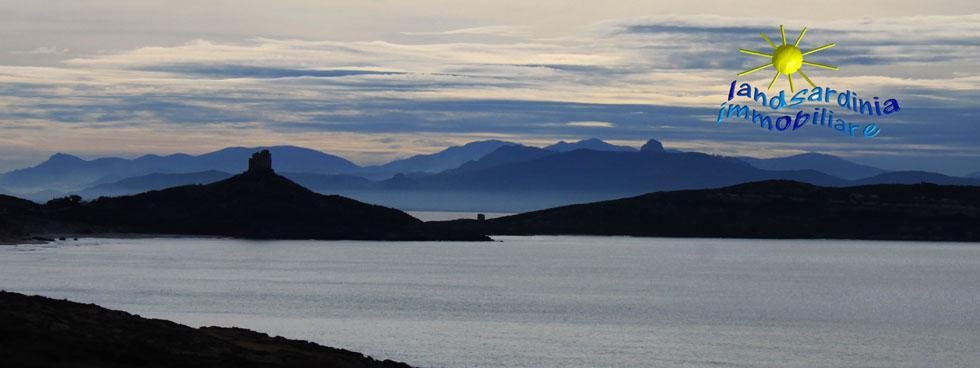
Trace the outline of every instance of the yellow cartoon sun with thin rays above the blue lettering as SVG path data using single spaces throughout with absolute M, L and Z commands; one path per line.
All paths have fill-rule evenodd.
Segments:
M 810 86 L 813 87 L 817 86 L 813 84 L 813 81 L 810 80 L 810 77 L 807 77 L 806 74 L 804 74 L 803 71 L 800 70 L 800 68 L 802 68 L 804 65 L 815 66 L 818 68 L 824 68 L 830 70 L 840 69 L 836 66 L 811 63 L 809 61 L 803 60 L 803 57 L 806 55 L 810 55 L 817 51 L 822 51 L 837 46 L 836 43 L 828 43 L 826 45 L 817 47 L 813 50 L 804 52 L 800 50 L 799 45 L 800 45 L 800 41 L 803 40 L 803 35 L 806 34 L 806 27 L 803 27 L 803 31 L 800 32 L 800 36 L 796 38 L 796 42 L 793 43 L 792 45 L 786 43 L 786 31 L 783 29 L 782 25 L 779 26 L 779 33 L 783 36 L 783 44 L 779 45 L 778 47 L 776 46 L 776 44 L 772 42 L 772 40 L 769 39 L 769 37 L 766 37 L 765 33 L 759 34 L 762 36 L 763 39 L 766 40 L 766 42 L 769 42 L 770 46 L 772 46 L 772 54 L 767 54 L 759 51 L 746 50 L 746 49 L 738 49 L 738 51 L 741 51 L 742 53 L 745 54 L 764 56 L 772 59 L 772 61 L 769 64 L 760 65 L 755 68 L 738 73 L 739 77 L 749 73 L 755 73 L 757 71 L 760 71 L 762 69 L 771 66 L 774 69 L 776 69 L 776 75 L 772 77 L 772 82 L 769 82 L 768 89 L 772 89 L 772 85 L 776 83 L 776 79 L 779 79 L 780 74 L 785 74 L 789 78 L 790 92 L 795 92 L 795 89 L 793 88 L 793 73 L 800 73 L 800 76 L 802 76 L 803 79 L 806 79 L 807 83 L 810 83 Z

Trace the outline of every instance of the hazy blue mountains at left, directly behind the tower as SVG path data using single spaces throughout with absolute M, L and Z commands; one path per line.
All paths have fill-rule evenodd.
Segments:
M 276 155 L 276 169 L 283 172 L 333 174 L 351 172 L 359 167 L 338 156 L 294 147 L 231 147 L 192 156 L 144 155 L 135 159 L 118 157 L 83 160 L 58 153 L 41 164 L 0 175 L 0 185 L 18 193 L 39 190 L 71 192 L 93 185 L 109 184 L 122 179 L 153 173 L 192 173 L 200 171 L 242 172 L 252 152 L 268 149 Z

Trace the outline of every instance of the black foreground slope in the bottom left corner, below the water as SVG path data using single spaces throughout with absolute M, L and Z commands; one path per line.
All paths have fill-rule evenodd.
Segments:
M 94 304 L 0 291 L 3 367 L 409 368 L 241 328 L 191 328 Z

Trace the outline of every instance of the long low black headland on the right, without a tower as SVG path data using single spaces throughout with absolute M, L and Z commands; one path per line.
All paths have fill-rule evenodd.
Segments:
M 764 181 L 434 224 L 501 235 L 978 241 L 980 187 Z

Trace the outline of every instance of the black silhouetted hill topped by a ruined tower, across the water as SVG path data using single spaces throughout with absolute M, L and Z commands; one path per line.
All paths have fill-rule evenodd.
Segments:
M 268 152 L 268 151 L 263 151 Z M 207 185 L 38 205 L 13 221 L 31 233 L 137 233 L 253 239 L 488 240 L 434 231 L 408 214 L 321 195 L 276 174 L 263 156 L 248 171 Z

